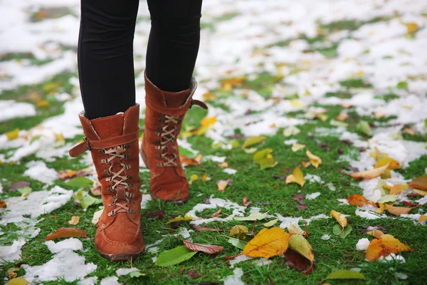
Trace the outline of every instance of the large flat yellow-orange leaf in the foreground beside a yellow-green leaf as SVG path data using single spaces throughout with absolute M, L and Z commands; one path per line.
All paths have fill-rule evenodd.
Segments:
M 270 258 L 286 252 L 289 245 L 289 236 L 284 229 L 272 227 L 261 231 L 246 244 L 242 254 L 248 257 Z

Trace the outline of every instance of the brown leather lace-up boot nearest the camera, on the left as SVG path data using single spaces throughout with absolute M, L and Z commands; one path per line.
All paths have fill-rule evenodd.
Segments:
M 79 118 L 86 138 L 70 150 L 70 156 L 90 150 L 105 207 L 97 222 L 95 247 L 112 261 L 135 259 L 144 250 L 138 176 L 139 105 L 124 114 L 88 120 L 82 112 Z

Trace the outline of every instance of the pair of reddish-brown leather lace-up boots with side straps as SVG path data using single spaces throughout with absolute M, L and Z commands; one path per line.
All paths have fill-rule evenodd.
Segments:
M 145 131 L 140 154 L 150 170 L 153 199 L 186 202 L 189 184 L 179 160 L 176 138 L 193 100 L 196 81 L 179 93 L 162 91 L 145 78 Z M 95 246 L 109 260 L 136 258 L 144 250 L 139 191 L 139 105 L 104 118 L 88 120 L 79 115 L 84 141 L 70 150 L 76 157 L 90 150 L 101 184 L 104 212 L 97 222 Z

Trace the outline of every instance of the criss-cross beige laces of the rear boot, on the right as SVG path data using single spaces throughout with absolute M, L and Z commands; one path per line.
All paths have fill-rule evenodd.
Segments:
M 178 155 L 176 155 L 176 146 L 173 146 L 172 157 L 170 157 L 169 146 L 174 144 L 176 141 L 176 130 L 179 129 L 177 126 L 181 123 L 179 119 L 181 115 L 166 115 L 164 114 L 164 120 L 162 120 L 165 125 L 160 128 L 162 132 L 157 132 L 157 136 L 160 137 L 159 145 L 156 147 L 158 150 L 161 150 L 159 158 L 162 158 L 164 162 L 158 163 L 158 167 L 178 167 L 178 164 L 175 162 Z M 172 127 L 168 130 L 169 127 Z M 171 142 L 171 144 L 169 144 Z

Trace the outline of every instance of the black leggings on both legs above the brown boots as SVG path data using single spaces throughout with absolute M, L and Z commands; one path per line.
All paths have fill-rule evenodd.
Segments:
M 147 77 L 162 90 L 189 88 L 200 41 L 201 0 L 147 0 L 152 19 Z M 80 90 L 88 119 L 135 105 L 133 38 L 139 0 L 81 0 Z

